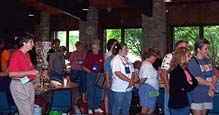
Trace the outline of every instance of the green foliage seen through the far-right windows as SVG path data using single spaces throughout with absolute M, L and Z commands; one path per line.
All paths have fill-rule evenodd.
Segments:
M 186 40 L 189 42 L 191 49 L 194 47 L 195 41 L 198 39 L 199 27 L 175 27 L 174 41 Z M 204 27 L 204 38 L 210 41 L 209 55 L 213 63 L 219 65 L 219 26 Z

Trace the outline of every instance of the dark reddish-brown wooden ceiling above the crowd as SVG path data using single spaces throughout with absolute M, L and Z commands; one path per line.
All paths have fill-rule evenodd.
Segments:
M 8 2 L 11 1 L 11 2 Z M 19 2 L 19 9 L 11 10 L 16 1 Z M 18 25 L 25 20 L 28 23 L 22 25 L 39 24 L 39 12 L 47 12 L 51 16 L 52 30 L 78 29 L 79 20 L 86 20 L 87 9 L 95 7 L 99 10 L 99 24 L 102 27 L 141 27 L 141 14 L 152 15 L 150 11 L 152 0 L 7 0 L 6 8 L 11 14 L 22 14 L 21 16 L 9 17 L 11 21 L 16 18 L 18 21 L 10 23 L 7 18 L 1 21 L 6 27 Z M 13 3 L 12 3 L 13 2 Z M 7 6 L 11 6 L 7 8 Z M 171 0 L 166 2 L 167 20 L 170 25 L 199 25 L 219 24 L 219 1 L 218 0 Z M 19 12 L 18 12 L 19 11 Z M 27 12 L 34 11 L 35 17 L 28 17 Z M 22 13 L 20 13 L 22 12 Z M 26 13 L 25 13 L 26 12 Z M 25 18 L 23 18 L 23 17 Z M 19 20 L 20 19 L 20 20 Z M 3 20 L 3 19 L 1 19 Z M 26 27 L 26 26 L 25 26 Z M 22 27 L 18 27 L 22 28 Z

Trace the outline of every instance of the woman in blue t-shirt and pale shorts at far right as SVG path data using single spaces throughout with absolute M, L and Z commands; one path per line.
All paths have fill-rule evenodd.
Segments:
M 213 108 L 216 76 L 208 56 L 209 41 L 199 39 L 195 43 L 195 56 L 188 64 L 188 69 L 199 84 L 191 92 L 191 109 L 194 115 L 207 115 Z

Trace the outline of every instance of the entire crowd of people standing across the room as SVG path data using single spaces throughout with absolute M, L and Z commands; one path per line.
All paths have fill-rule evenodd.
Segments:
M 164 56 L 160 67 L 155 67 L 161 59 L 157 48 L 144 50 L 141 63 L 136 66 L 127 57 L 127 45 L 116 39 L 108 41 L 105 55 L 100 51 L 98 40 L 92 41 L 90 50 L 77 42 L 76 50 L 69 56 L 65 56 L 66 49 L 59 44 L 55 39 L 48 52 L 49 77 L 63 82 L 67 58 L 71 66 L 70 80 L 79 84 L 81 100 L 88 102 L 88 114 L 103 113 L 101 100 L 104 99 L 107 114 L 128 115 L 132 90 L 136 87 L 141 113 L 152 115 L 161 79 L 165 88 L 165 115 L 189 115 L 190 109 L 193 115 L 206 115 L 213 108 L 217 77 L 208 54 L 210 43 L 206 39 L 196 41 L 194 54 L 188 49 L 187 41 L 178 41 L 175 50 Z M 20 115 L 33 114 L 32 81 L 39 73 L 28 53 L 33 46 L 33 36 L 20 37 L 18 48 L 10 55 L 5 68 L 6 75 L 11 78 L 10 92 Z M 105 79 L 104 88 L 97 85 L 98 77 Z

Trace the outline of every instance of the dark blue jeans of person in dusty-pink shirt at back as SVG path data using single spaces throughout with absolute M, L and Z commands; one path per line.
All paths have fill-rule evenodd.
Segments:
M 71 70 L 71 81 L 79 84 L 80 92 L 85 93 L 87 89 L 86 72 L 83 70 Z

